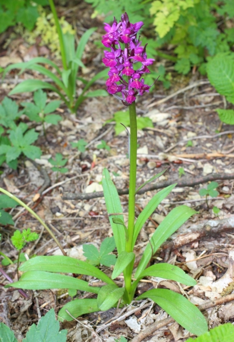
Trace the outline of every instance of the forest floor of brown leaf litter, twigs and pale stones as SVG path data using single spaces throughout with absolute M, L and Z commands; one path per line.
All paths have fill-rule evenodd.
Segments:
M 103 24 L 98 19 L 90 19 L 92 8 L 89 5 L 82 3 L 79 11 L 78 6 L 69 11 L 58 7 L 57 11 L 59 14 L 66 12 L 66 19 L 76 23 L 78 33 L 81 33 L 83 28 L 98 26 L 85 48 L 83 62 L 87 65 L 87 70 L 82 76 L 89 78 L 103 69 L 101 50 L 93 41 L 104 34 Z M 29 47 L 22 38 L 17 37 L 6 50 L 2 49 L 0 64 L 3 63 L 2 57 L 7 56 L 12 62 L 17 59 L 24 61 L 40 55 L 42 50 L 37 44 Z M 41 53 L 47 50 L 45 47 Z M 41 75 L 33 71 L 26 71 L 20 76 L 17 76 L 16 70 L 12 71 L 2 83 L 0 100 L 3 100 L 18 79 L 32 77 L 42 79 Z M 163 260 L 181 267 L 197 280 L 197 285 L 182 289 L 174 281 L 149 278 L 140 283 L 138 293 L 158 286 L 178 293 L 185 292 L 197 305 L 219 299 L 217 305 L 208 307 L 203 312 L 209 322 L 209 328 L 212 328 L 228 321 L 233 322 L 234 318 L 234 306 L 225 300 L 234 286 L 234 130 L 232 126 L 220 123 L 216 109 L 225 106 L 225 101 L 206 78 L 195 72 L 189 77 L 177 75 L 171 83 L 171 88 L 165 91 L 162 82 L 157 82 L 153 92 L 144 94 L 136 103 L 137 114 L 150 117 L 154 126 L 138 131 L 137 185 L 140 186 L 155 173 L 169 167 L 155 182 L 153 190 L 137 195 L 136 216 L 157 192 L 157 188 L 178 184 L 157 207 L 147 221 L 144 231 L 140 232 L 135 248 L 135 263 L 137 265 L 139 262 L 148 237 L 165 215 L 174 207 L 185 204 L 197 213 L 173 234 L 170 241 L 154 255 L 154 260 Z M 100 87 L 105 89 L 105 82 L 94 85 L 94 89 Z M 55 96 L 50 93 L 51 98 L 54 99 Z M 18 103 L 31 97 L 31 93 L 11 96 Z M 114 122 L 106 123 L 106 120 L 113 118 L 116 111 L 123 110 L 126 110 L 128 115 L 127 108 L 114 97 L 89 98 L 78 108 L 77 115 L 70 114 L 62 105 L 58 114 L 63 116 L 63 121 L 57 126 L 49 126 L 46 137 L 40 126 L 31 124 L 31 127 L 40 132 L 36 145 L 43 151 L 41 160 L 36 162 L 40 162 L 45 168 L 52 186 L 49 188 L 48 185 L 37 199 L 35 195 L 40 192 L 45 179 L 35 165 L 22 160 L 16 171 L 6 164 L 1 167 L 3 173 L 0 176 L 0 186 L 35 210 L 53 230 L 67 255 L 74 258 L 84 260 L 84 244 L 92 242 L 99 247 L 105 237 L 112 235 L 104 197 L 91 198 L 93 192 L 102 190 L 100 182 L 103 169 L 109 170 L 117 188 L 128 188 L 127 134 L 123 131 L 116 136 Z M 88 143 L 84 153 L 71 146 L 71 142 L 80 139 Z M 110 150 L 97 148 L 101 140 L 105 140 Z M 57 174 L 51 170 L 48 159 L 55 157 L 56 153 L 61 153 L 68 159 L 66 167 L 69 171 L 65 174 Z M 215 198 L 209 197 L 207 207 L 205 197 L 199 195 L 199 189 L 206 188 L 209 181 L 214 180 L 219 184 L 219 195 Z M 90 199 L 79 199 L 77 194 L 81 193 L 90 196 Z M 123 212 L 127 213 L 127 195 L 121 195 L 121 203 Z M 213 207 L 220 211 L 215 214 Z M 2 252 L 16 259 L 17 252 L 10 237 L 15 229 L 30 227 L 32 231 L 40 234 L 40 240 L 36 244 L 28 244 L 24 252 L 31 255 L 60 253 L 54 240 L 29 213 L 17 207 L 11 214 L 15 221 L 14 227 L 1 227 Z M 110 274 L 111 270 L 107 267 L 102 269 Z M 4 270 L 14 281 L 17 280 L 16 264 L 5 266 Z M 93 281 L 87 276 L 82 279 Z M 118 280 L 121 281 L 122 278 Z M 6 283 L 5 278 L 1 276 L 1 284 Z M 0 320 L 14 330 L 18 341 L 22 341 L 29 326 L 37 323 L 40 315 L 44 315 L 52 307 L 57 313 L 71 300 L 67 291 L 41 290 L 26 293 L 28 299 L 22 298 L 14 288 L 2 288 L 0 294 Z M 83 295 L 78 293 L 77 298 L 82 298 Z M 118 316 L 121 316 L 120 319 Z M 81 323 L 73 320 L 64 322 L 61 327 L 69 331 L 68 342 L 111 342 L 121 335 L 127 338 L 135 337 L 134 341 L 139 342 L 143 330 L 167 317 L 158 305 L 150 301 L 135 301 L 127 306 L 125 311 L 113 308 L 107 312 L 84 315 L 79 317 Z M 175 322 L 148 335 L 146 340 L 152 342 L 185 341 L 192 336 Z

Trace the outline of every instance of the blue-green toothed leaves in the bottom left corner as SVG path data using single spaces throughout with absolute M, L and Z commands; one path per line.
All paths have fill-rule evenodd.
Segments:
M 32 324 L 22 342 L 35 341 L 35 336 L 38 337 L 37 340 L 40 342 L 66 342 L 67 330 L 59 331 L 59 323 L 55 318 L 54 309 L 51 309 L 45 316 L 41 317 L 37 326 Z M 0 341 L 18 342 L 14 332 L 4 323 L 0 323 Z

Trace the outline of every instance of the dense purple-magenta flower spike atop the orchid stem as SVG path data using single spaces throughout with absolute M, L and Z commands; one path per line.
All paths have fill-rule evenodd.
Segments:
M 150 86 L 144 84 L 143 74 L 150 73 L 148 65 L 153 64 L 154 59 L 147 58 L 146 45 L 141 46 L 137 40 L 137 32 L 144 25 L 143 22 L 131 24 L 127 13 L 121 16 L 119 24 L 114 18 L 112 26 L 105 23 L 104 29 L 107 32 L 102 36 L 102 44 L 111 51 L 104 51 L 105 57 L 102 62 L 110 67 L 109 78 L 106 81 L 107 91 L 115 95 L 122 94 L 122 102 L 128 106 L 136 100 L 137 95 L 149 92 Z M 121 43 L 125 44 L 124 50 Z M 140 62 L 139 69 L 134 70 L 133 65 Z

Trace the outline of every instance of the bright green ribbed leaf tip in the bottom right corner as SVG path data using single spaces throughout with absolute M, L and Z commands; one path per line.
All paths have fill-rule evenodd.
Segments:
M 233 341 L 234 327 L 231 323 L 221 324 L 201 336 L 193 339 L 190 337 L 186 342 L 226 342 Z

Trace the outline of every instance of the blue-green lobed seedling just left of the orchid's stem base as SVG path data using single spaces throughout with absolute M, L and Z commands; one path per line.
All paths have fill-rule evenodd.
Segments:
M 109 254 L 115 249 L 114 237 L 106 237 L 100 246 L 100 251 L 94 245 L 83 245 L 84 256 L 87 258 L 87 262 L 99 266 L 100 264 L 110 267 L 115 265 L 116 256 Z

